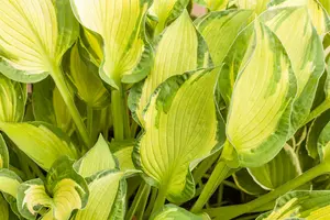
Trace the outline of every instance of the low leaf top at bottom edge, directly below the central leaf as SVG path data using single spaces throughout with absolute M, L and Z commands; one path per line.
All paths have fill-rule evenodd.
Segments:
M 151 220 L 210 220 L 210 217 L 206 213 L 195 215 L 187 211 L 184 208 L 177 207 L 175 205 L 166 205 L 158 212 L 151 217 Z

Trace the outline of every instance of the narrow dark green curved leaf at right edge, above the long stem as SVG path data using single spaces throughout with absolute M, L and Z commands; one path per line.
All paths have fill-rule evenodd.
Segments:
M 308 155 L 314 160 L 318 158 L 318 140 L 319 136 L 324 129 L 324 127 L 330 121 L 330 110 L 326 111 L 321 116 L 319 116 L 316 120 L 314 120 L 309 127 L 308 135 L 306 140 L 306 150 Z

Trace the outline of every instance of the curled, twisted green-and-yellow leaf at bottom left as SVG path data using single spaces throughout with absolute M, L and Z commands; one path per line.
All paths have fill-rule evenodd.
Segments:
M 72 211 L 86 207 L 88 186 L 74 170 L 73 164 L 68 157 L 62 157 L 53 164 L 45 184 L 41 179 L 21 184 L 18 208 L 24 218 L 35 219 L 47 208 L 44 219 L 68 220 Z

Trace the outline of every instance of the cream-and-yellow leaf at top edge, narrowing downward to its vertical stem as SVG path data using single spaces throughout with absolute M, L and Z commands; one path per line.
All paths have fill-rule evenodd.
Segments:
M 144 20 L 148 0 L 70 0 L 76 18 L 103 40 L 100 76 L 119 89 L 144 78 L 152 62 Z

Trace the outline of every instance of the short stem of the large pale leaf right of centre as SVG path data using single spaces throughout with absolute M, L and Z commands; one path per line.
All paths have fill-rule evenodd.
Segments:
M 227 174 L 231 170 L 224 161 L 219 161 L 216 168 L 213 169 L 208 183 L 202 189 L 196 204 L 191 208 L 191 212 L 199 212 L 205 204 L 209 200 L 216 189 L 219 187 L 222 180 L 226 179 Z

